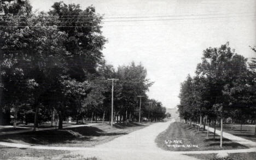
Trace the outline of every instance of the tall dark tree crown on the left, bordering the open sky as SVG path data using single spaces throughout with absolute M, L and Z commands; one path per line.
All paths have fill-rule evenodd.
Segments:
M 49 15 L 56 16 L 59 21 L 55 25 L 67 33 L 65 47 L 71 53 L 67 58 L 67 73 L 78 81 L 85 80 L 88 74 L 96 74 L 103 58 L 101 50 L 107 42 L 102 36 L 102 17 L 96 14 L 93 6 L 82 10 L 79 4 L 55 2 L 52 8 Z

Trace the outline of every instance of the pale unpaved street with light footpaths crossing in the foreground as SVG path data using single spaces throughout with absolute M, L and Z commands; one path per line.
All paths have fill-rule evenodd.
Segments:
M 138 131 L 127 135 L 122 135 L 108 143 L 97 145 L 96 147 L 53 147 L 53 146 L 29 146 L 21 144 L 0 143 L 0 145 L 10 147 L 22 147 L 27 149 L 46 149 L 46 150 L 70 150 L 74 151 L 71 155 L 83 155 L 84 157 L 97 157 L 100 159 L 196 159 L 188 157 L 183 154 L 202 154 L 202 153 L 238 153 L 238 152 L 253 152 L 256 150 L 255 143 L 250 149 L 238 150 L 210 150 L 210 151 L 165 151 L 160 149 L 156 143 L 156 137 L 167 127 L 174 122 L 174 119 L 168 122 L 155 123 Z M 179 129 L 179 128 L 176 128 Z M 212 131 L 212 129 L 211 129 Z M 217 131 L 219 133 L 219 131 Z M 237 143 L 244 144 L 240 141 L 241 138 L 230 137 L 229 134 L 224 133 L 225 138 L 237 141 Z M 252 141 L 247 143 L 253 144 Z M 145 150 L 146 149 L 146 150 Z M 58 157 L 55 157 L 58 158 Z M 59 157 L 60 158 L 60 157 Z

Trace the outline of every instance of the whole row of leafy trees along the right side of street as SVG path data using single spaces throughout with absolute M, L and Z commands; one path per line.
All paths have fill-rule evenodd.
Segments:
M 252 48 L 255 51 L 255 48 Z M 196 75 L 181 84 L 178 105 L 180 117 L 202 125 L 216 121 L 221 126 L 222 147 L 223 120 L 231 123 L 255 123 L 256 125 L 256 59 L 250 61 L 236 54 L 229 43 L 219 48 L 203 51 L 202 62 L 197 64 Z M 255 129 L 256 133 L 256 129 Z

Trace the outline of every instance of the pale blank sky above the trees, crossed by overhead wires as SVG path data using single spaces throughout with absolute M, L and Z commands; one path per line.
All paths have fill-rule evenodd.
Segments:
M 33 10 L 48 11 L 54 0 L 30 0 Z M 121 17 L 102 24 L 108 39 L 103 55 L 115 68 L 142 62 L 154 81 L 149 98 L 166 108 L 179 104 L 180 84 L 195 75 L 206 48 L 226 42 L 247 58 L 256 57 L 249 46 L 256 45 L 254 0 L 62 0 L 94 5 L 104 17 Z M 143 17 L 129 18 L 123 17 Z M 110 21 L 105 19 L 103 21 Z M 147 20 L 147 21 L 120 21 Z M 150 21 L 149 21 L 150 20 Z

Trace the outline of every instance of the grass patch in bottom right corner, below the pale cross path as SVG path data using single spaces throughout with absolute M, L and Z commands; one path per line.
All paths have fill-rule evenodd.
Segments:
M 187 156 L 195 157 L 198 159 L 215 160 L 216 155 L 217 154 L 188 154 Z M 229 160 L 255 160 L 255 157 L 256 157 L 256 152 L 229 153 Z

